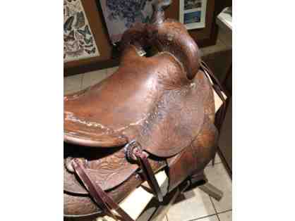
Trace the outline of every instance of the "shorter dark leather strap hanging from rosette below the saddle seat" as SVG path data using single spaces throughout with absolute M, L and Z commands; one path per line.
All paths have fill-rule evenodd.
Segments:
M 159 202 L 163 201 L 163 194 L 161 189 L 159 188 L 159 184 L 157 182 L 157 179 L 154 175 L 154 172 L 152 171 L 152 167 L 150 166 L 150 162 L 148 161 L 148 153 L 145 151 L 142 151 L 141 149 L 135 149 L 134 155 L 138 159 L 138 162 L 140 164 L 140 169 L 143 170 L 143 175 L 145 177 L 145 180 L 150 185 L 150 188 L 154 192 L 155 196 L 157 197 L 157 200 Z

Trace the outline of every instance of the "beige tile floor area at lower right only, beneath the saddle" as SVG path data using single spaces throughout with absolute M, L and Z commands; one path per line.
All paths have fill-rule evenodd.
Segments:
M 185 192 L 181 201 L 172 206 L 167 213 L 169 221 L 231 221 L 231 179 L 217 156 L 215 165 L 205 168 L 205 175 L 211 184 L 222 190 L 220 201 L 205 194 L 198 188 Z

